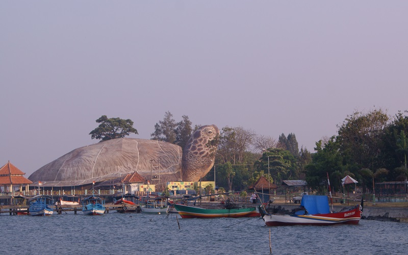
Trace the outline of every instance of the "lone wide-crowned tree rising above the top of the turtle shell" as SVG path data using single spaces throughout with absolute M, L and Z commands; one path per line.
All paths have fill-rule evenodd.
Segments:
M 137 130 L 133 127 L 133 121 L 131 119 L 108 118 L 106 115 L 102 115 L 96 122 L 100 124 L 89 133 L 91 139 L 107 141 L 123 138 L 129 136 L 131 133 L 138 134 Z

